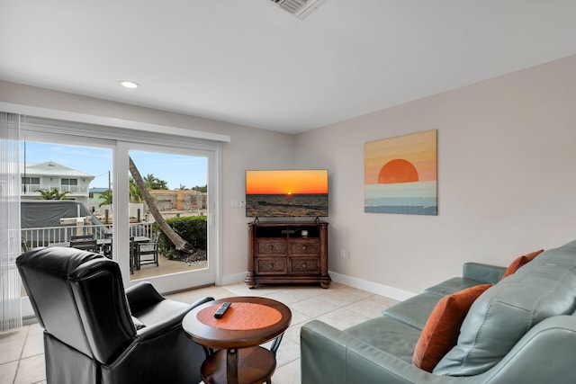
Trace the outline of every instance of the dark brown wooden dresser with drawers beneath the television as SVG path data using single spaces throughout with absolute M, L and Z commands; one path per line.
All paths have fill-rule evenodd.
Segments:
M 257 283 L 330 284 L 328 223 L 248 223 L 249 288 Z

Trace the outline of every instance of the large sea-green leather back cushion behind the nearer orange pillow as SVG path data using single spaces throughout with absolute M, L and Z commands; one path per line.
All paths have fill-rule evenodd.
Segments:
M 474 301 L 458 344 L 433 373 L 473 376 L 490 370 L 547 317 L 571 314 L 576 299 L 576 241 L 545 251 Z

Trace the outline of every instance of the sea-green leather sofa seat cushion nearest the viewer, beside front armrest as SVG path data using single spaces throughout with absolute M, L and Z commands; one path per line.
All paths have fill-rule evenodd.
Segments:
M 375 317 L 344 332 L 411 364 L 420 331 L 392 317 Z

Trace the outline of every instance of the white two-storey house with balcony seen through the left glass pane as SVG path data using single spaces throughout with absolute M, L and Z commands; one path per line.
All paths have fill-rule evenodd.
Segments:
M 40 164 L 21 165 L 20 174 L 23 199 L 41 199 L 38 191 L 58 189 L 59 192 L 69 192 L 66 195 L 67 200 L 80 201 L 88 206 L 88 188 L 94 180 L 92 174 L 85 174 L 51 160 Z

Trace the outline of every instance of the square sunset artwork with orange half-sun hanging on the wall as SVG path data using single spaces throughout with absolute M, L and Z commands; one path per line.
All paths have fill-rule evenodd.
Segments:
M 365 144 L 365 212 L 437 215 L 437 129 Z

